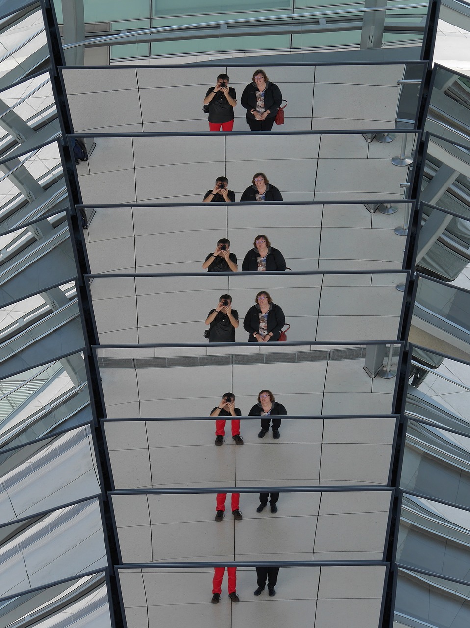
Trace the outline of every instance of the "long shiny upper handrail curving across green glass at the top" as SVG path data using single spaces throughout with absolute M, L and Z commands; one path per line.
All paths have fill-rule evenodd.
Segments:
M 64 50 L 67 48 L 74 48 L 75 46 L 85 46 L 90 43 L 106 43 L 107 41 L 119 41 L 120 39 L 127 39 L 129 36 L 138 36 L 138 35 L 152 35 L 153 33 L 163 33 L 168 31 L 183 31 L 186 29 L 194 29 L 201 28 L 202 26 L 220 26 L 221 29 L 226 27 L 227 24 L 241 24 L 241 23 L 254 23 L 255 21 L 263 21 L 275 20 L 275 19 L 285 19 L 285 18 L 305 18 L 305 17 L 315 17 L 315 16 L 325 16 L 325 15 L 345 15 L 349 13 L 371 13 L 373 11 L 402 11 L 403 9 L 419 9 L 419 8 L 427 8 L 429 7 L 428 3 L 418 3 L 418 4 L 407 4 L 404 6 L 396 6 L 396 7 L 374 7 L 374 8 L 364 8 L 364 9 L 332 9 L 331 11 L 309 11 L 307 13 L 286 13 L 283 15 L 268 15 L 266 17 L 260 18 L 242 18 L 242 19 L 224 19 L 222 21 L 217 22 L 198 22 L 195 24 L 178 24 L 177 26 L 157 26 L 154 28 L 145 28 L 139 31 L 132 31 L 131 33 L 119 33 L 117 35 L 104 35 L 102 37 L 93 37 L 84 41 L 74 41 L 72 43 L 64 44 L 62 47 Z

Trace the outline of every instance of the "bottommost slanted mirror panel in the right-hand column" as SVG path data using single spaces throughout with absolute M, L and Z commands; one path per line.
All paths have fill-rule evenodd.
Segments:
M 470 587 L 435 575 L 398 571 L 394 624 L 464 628 L 470 619 Z

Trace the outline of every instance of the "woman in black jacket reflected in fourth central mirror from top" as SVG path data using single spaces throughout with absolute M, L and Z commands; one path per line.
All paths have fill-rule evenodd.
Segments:
M 276 342 L 285 324 L 284 312 L 266 291 L 258 292 L 254 303 L 243 321 L 248 342 Z

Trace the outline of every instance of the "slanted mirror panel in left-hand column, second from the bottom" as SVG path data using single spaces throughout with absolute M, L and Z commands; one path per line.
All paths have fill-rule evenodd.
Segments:
M 107 566 L 97 499 L 0 527 L 2 597 Z

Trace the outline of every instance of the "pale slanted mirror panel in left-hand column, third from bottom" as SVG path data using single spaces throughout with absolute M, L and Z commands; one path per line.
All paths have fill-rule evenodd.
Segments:
M 21 519 L 100 491 L 89 426 L 0 454 L 0 520 Z

